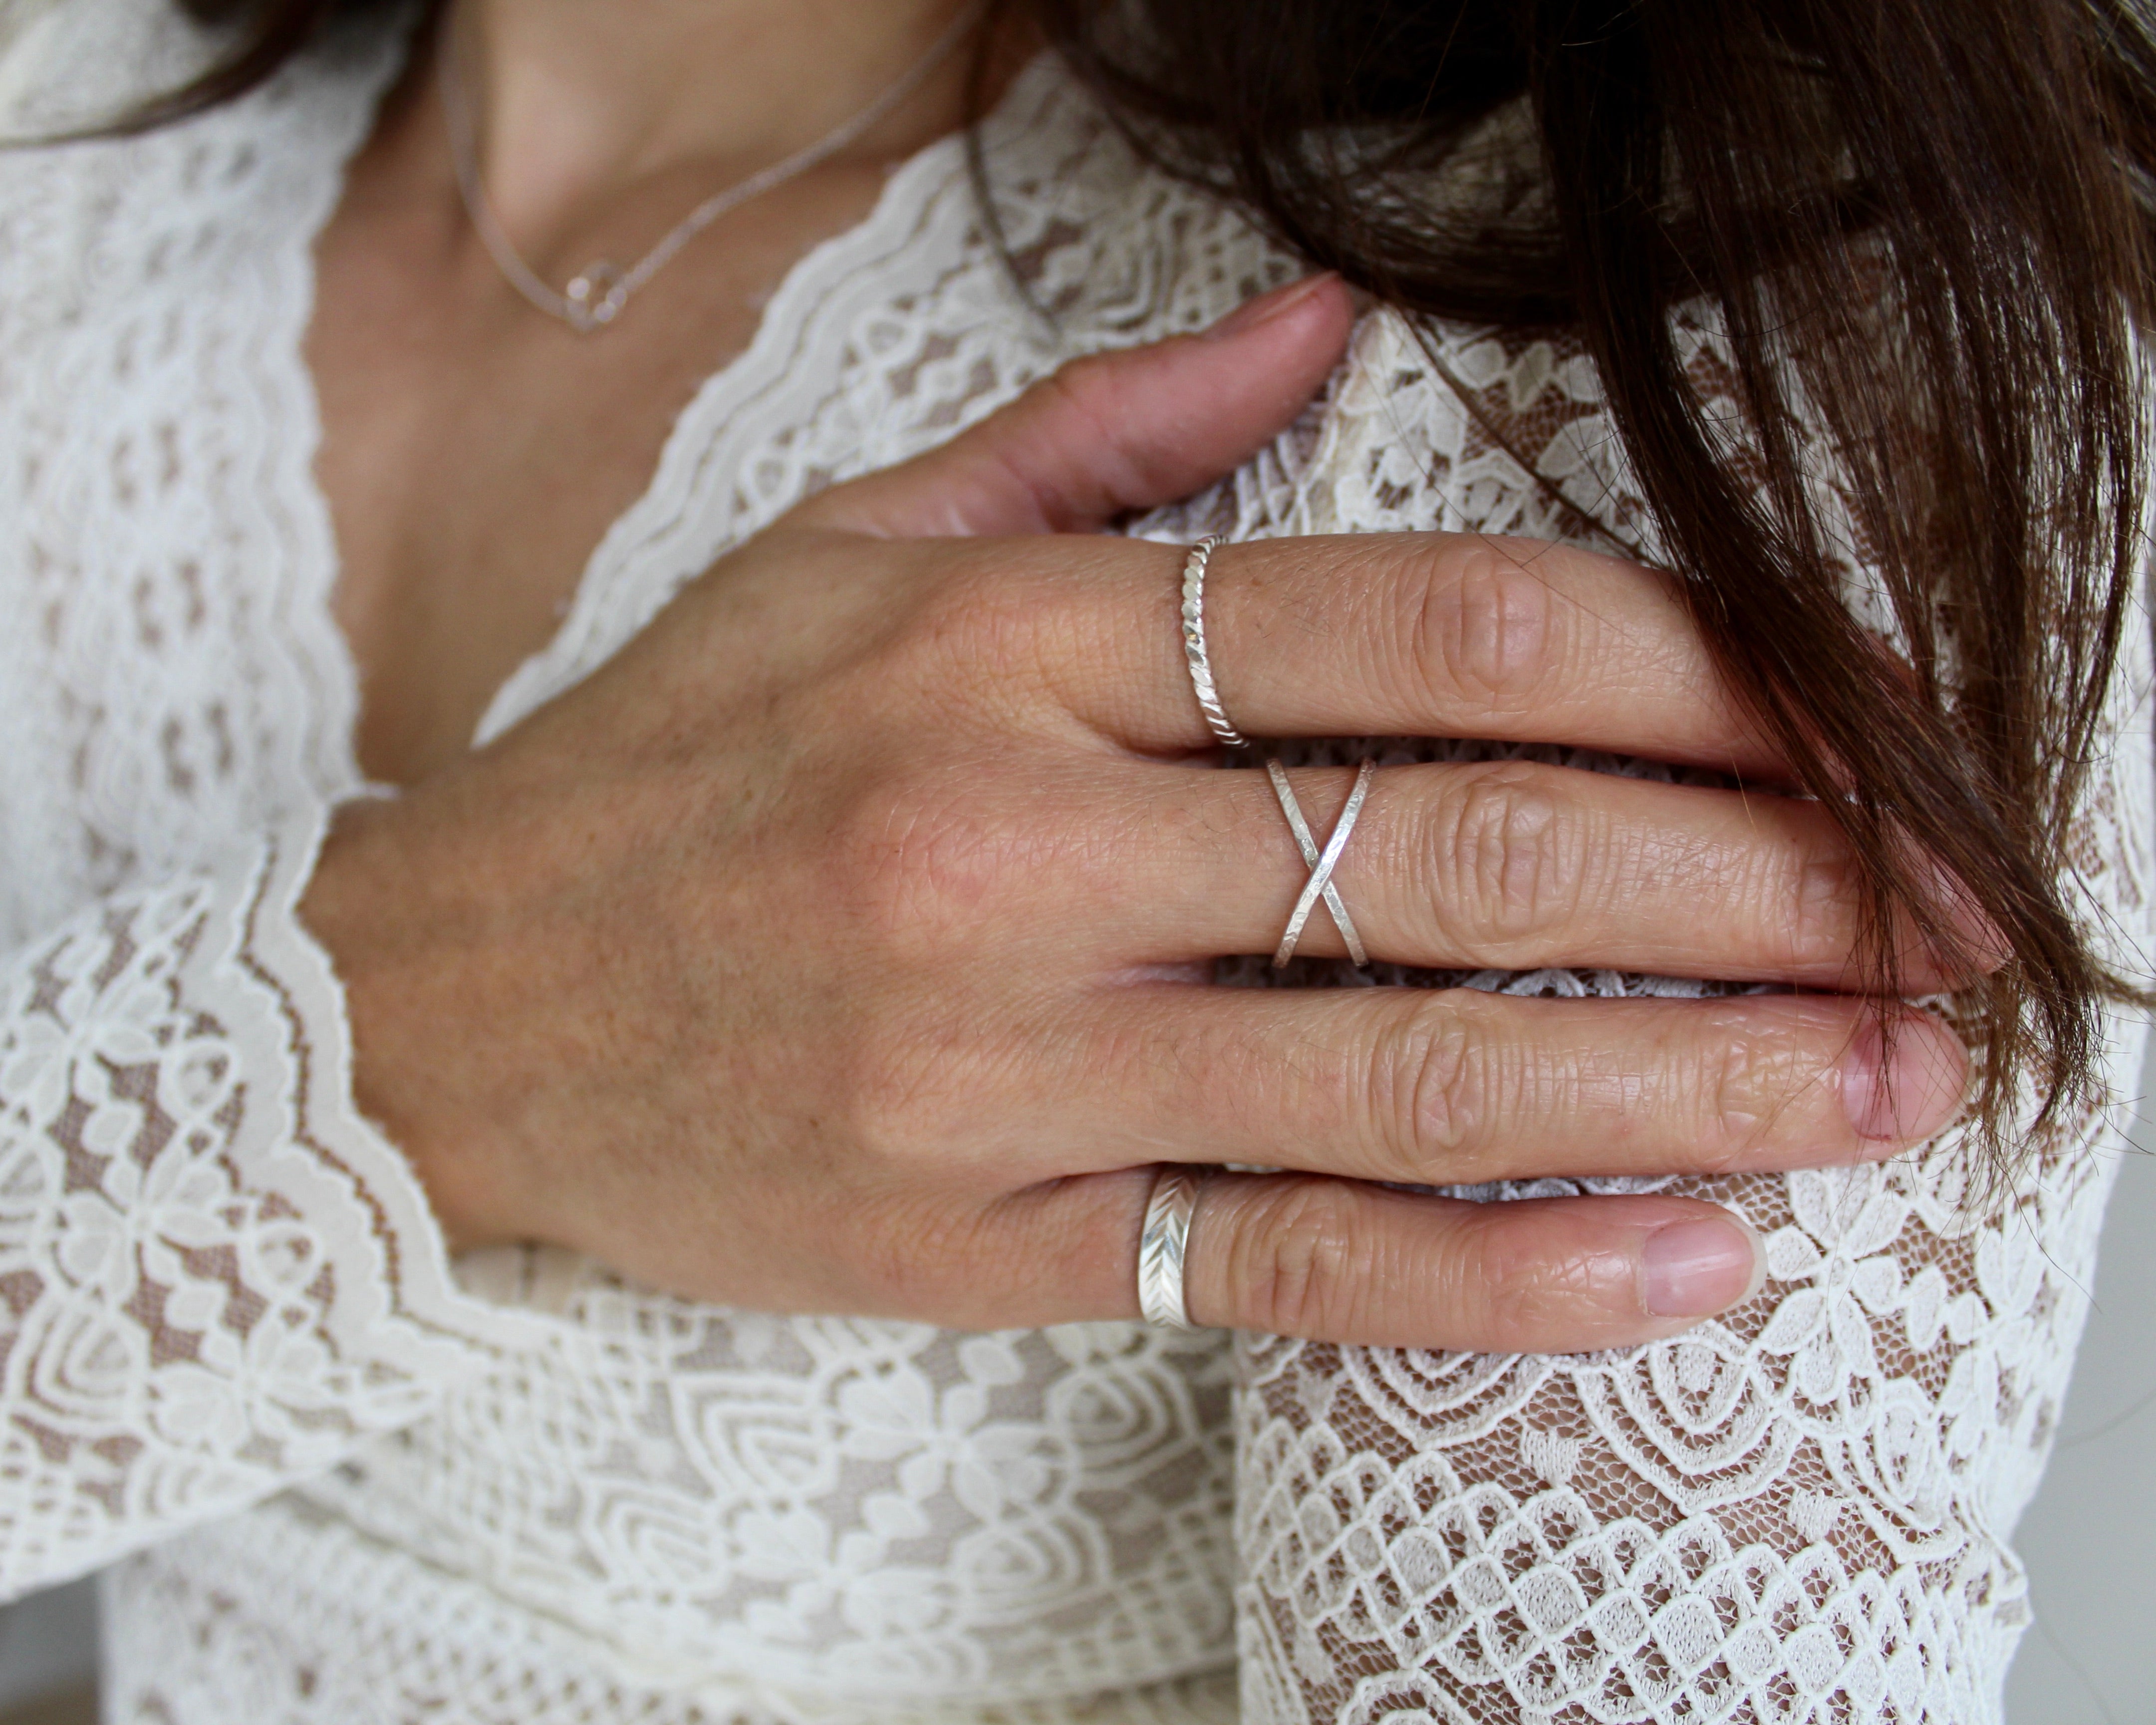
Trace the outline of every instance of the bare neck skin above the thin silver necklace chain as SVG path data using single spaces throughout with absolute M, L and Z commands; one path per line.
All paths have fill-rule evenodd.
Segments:
M 714 188 L 875 101 L 970 0 L 457 0 L 444 50 L 476 110 L 487 198 L 530 252 L 623 190 L 705 170 Z M 962 121 L 968 54 L 865 136 L 897 160 Z

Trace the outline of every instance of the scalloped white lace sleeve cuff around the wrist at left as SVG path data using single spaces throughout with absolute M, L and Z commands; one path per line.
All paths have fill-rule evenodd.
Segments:
M 332 1466 L 507 1339 L 349 1106 L 315 826 L 0 962 L 0 1593 Z

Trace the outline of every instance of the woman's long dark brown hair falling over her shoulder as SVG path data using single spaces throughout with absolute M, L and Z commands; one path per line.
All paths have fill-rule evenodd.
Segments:
M 231 52 L 138 121 L 373 6 L 194 0 Z M 1895 914 L 1979 968 L 1930 854 L 2012 949 L 1958 1003 L 1988 1147 L 2020 1141 L 2022 1076 L 2046 1119 L 2089 1102 L 2098 1000 L 2134 992 L 2063 899 L 2139 627 L 2156 52 L 2132 0 L 1005 9 L 1151 160 L 1313 265 L 1585 345 L 1727 681 L 1856 845 L 1867 975 L 1891 977 Z M 1432 198 L 1468 155 L 1479 190 Z M 1680 356 L 1686 302 L 1720 315 L 1742 427 Z M 1846 604 L 1850 530 L 1906 666 Z

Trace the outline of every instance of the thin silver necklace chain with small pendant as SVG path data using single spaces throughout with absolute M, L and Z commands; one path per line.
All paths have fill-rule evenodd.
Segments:
M 899 108 L 899 104 L 927 82 L 929 73 L 936 71 L 944 58 L 949 58 L 951 50 L 972 32 L 975 24 L 981 22 L 985 0 L 977 0 L 966 6 L 951 19 L 949 26 L 944 26 L 944 32 L 936 37 L 927 54 L 914 60 L 903 73 L 899 73 L 897 82 L 888 84 L 884 93 L 875 97 L 875 101 L 839 125 L 834 132 L 826 132 L 813 144 L 793 151 L 793 155 L 783 162 L 772 162 L 772 166 L 761 172 L 755 172 L 722 192 L 714 192 L 627 270 L 621 270 L 606 259 L 595 259 L 571 276 L 569 285 L 561 293 L 548 287 L 517 254 L 517 248 L 509 244 L 509 235 L 502 233 L 502 224 L 494 218 L 494 205 L 487 203 L 487 188 L 479 177 L 472 108 L 466 101 L 464 75 L 457 67 L 457 37 L 444 22 L 442 119 L 448 123 L 448 153 L 457 164 L 457 192 L 464 196 L 464 213 L 472 218 L 472 229 L 479 233 L 479 242 L 487 248 L 487 257 L 494 259 L 494 265 L 517 293 L 522 293 L 548 317 L 558 317 L 578 334 L 589 336 L 621 317 L 621 308 L 630 304 L 630 295 L 673 263 L 690 239 L 711 226 L 711 222 L 729 209 L 740 209 L 750 198 L 761 198 L 765 192 L 772 192 L 789 179 L 808 172 L 882 125 Z M 455 13 L 448 13 L 448 17 L 453 19 Z

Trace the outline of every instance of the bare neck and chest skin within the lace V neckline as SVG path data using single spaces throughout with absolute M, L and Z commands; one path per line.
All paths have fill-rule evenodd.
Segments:
M 867 106 L 955 11 L 461 0 L 453 41 L 487 198 L 556 287 L 593 259 L 634 261 L 714 190 Z M 763 298 L 962 112 L 953 56 L 854 149 L 727 216 L 584 339 L 520 300 L 472 235 L 436 43 L 418 43 L 317 246 L 308 332 L 373 778 L 410 785 L 466 750 L 649 483 L 675 416 L 755 336 Z

